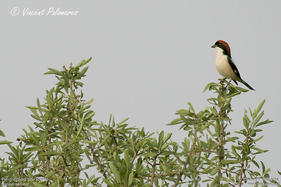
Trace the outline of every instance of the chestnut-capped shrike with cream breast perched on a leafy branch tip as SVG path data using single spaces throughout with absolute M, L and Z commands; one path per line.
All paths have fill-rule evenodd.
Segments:
M 215 48 L 215 51 L 217 53 L 216 69 L 219 72 L 219 74 L 223 76 L 223 78 L 229 79 L 229 83 L 233 80 L 233 82 L 235 82 L 236 85 L 238 85 L 237 81 L 241 82 L 250 90 L 254 90 L 247 82 L 243 81 L 243 79 L 241 78 L 235 63 L 231 58 L 230 47 L 228 43 L 226 43 L 223 40 L 218 40 L 215 43 L 215 45 L 211 46 L 211 48 Z

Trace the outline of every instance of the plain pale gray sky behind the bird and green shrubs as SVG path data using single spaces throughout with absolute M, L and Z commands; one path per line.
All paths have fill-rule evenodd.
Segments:
M 172 132 L 184 141 L 180 126 L 165 126 L 177 118 L 176 110 L 197 112 L 210 104 L 212 92 L 202 93 L 209 82 L 221 78 L 211 45 L 225 40 L 241 77 L 255 91 L 232 99 L 233 119 L 228 131 L 244 128 L 244 108 L 256 108 L 266 99 L 257 144 L 269 152 L 257 155 L 271 177 L 279 177 L 280 161 L 280 1 L 1 1 L 1 108 L 0 129 L 16 138 L 35 120 L 25 106 L 43 103 L 46 90 L 57 82 L 43 75 L 47 68 L 82 59 L 88 63 L 82 79 L 85 99 L 94 98 L 96 121 L 119 122 L 146 131 Z M 14 7 L 20 9 L 11 15 Z M 23 16 L 24 8 L 45 15 Z M 78 11 L 77 15 L 46 15 L 48 9 Z M 246 88 L 243 84 L 240 87 Z M 15 144 L 14 144 L 15 145 Z M 1 145 L 0 157 L 7 158 Z M 280 178 L 281 179 L 281 178 Z M 280 180 L 279 180 L 280 181 Z

